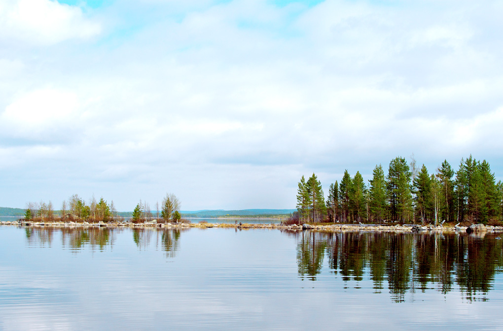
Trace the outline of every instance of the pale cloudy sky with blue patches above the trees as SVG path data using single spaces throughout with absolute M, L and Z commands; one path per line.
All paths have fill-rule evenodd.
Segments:
M 295 208 L 470 154 L 503 179 L 503 3 L 0 0 L 0 206 Z M 385 170 L 386 171 L 386 170 Z

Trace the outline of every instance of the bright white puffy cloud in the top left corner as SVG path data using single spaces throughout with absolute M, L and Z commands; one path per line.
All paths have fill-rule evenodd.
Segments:
M 35 45 L 55 44 L 99 34 L 78 7 L 51 0 L 5 0 L 0 4 L 0 40 L 21 40 Z

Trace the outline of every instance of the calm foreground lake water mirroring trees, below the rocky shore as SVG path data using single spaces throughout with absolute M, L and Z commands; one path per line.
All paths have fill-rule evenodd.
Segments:
M 496 237 L 3 226 L 0 330 L 500 330 Z

